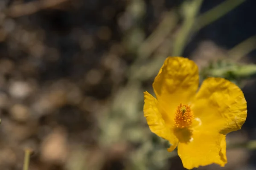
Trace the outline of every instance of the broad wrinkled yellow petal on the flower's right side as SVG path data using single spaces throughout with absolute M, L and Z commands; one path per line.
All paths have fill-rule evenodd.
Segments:
M 192 106 L 201 127 L 222 134 L 241 129 L 247 117 L 244 94 L 234 83 L 223 78 L 207 78 Z

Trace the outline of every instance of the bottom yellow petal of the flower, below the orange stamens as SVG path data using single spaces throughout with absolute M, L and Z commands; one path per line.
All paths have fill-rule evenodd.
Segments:
M 227 163 L 224 138 L 220 133 L 195 132 L 191 142 L 179 142 L 178 155 L 183 166 L 189 170 L 213 163 L 223 167 Z

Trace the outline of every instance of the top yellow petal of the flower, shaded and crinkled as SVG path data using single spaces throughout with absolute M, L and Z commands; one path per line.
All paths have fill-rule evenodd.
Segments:
M 184 57 L 168 57 L 157 77 L 153 88 L 160 105 L 173 119 L 180 103 L 188 103 L 198 89 L 198 67 Z

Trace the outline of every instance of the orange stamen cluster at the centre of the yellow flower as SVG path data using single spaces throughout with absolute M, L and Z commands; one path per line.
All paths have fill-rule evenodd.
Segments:
M 191 108 L 187 104 L 181 104 L 177 107 L 175 113 L 175 127 L 177 128 L 189 128 L 192 126 L 194 120 L 194 114 L 191 111 Z

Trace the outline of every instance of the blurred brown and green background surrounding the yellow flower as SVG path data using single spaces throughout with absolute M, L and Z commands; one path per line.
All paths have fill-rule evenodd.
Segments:
M 256 169 L 255 0 L 0 0 L 0 169 L 183 170 L 143 91 L 168 56 L 239 85 L 225 170 Z M 200 170 L 217 170 L 216 165 Z

